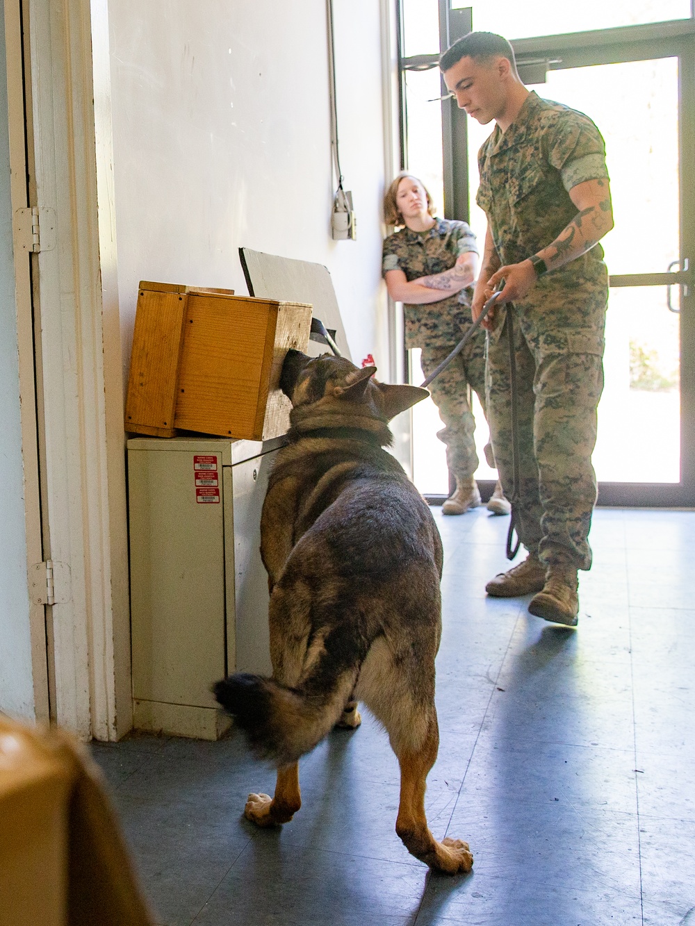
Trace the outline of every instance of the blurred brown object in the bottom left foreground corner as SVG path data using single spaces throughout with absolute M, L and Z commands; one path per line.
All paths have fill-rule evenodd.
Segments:
M 0 926 L 152 926 L 100 772 L 0 714 Z

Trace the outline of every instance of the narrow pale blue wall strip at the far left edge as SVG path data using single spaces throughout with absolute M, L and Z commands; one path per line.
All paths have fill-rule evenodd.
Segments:
M 0 710 L 33 720 L 5 74 L 4 19 L 0 15 Z

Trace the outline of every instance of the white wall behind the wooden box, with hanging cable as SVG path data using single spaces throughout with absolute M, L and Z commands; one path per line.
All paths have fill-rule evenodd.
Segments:
M 358 240 L 334 242 L 324 0 L 110 0 L 124 363 L 140 280 L 246 293 L 238 248 L 325 264 L 359 363 L 386 371 L 380 6 L 335 0 L 341 165 Z

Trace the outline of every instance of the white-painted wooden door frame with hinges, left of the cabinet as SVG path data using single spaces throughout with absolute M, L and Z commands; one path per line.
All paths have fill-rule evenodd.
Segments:
M 56 229 L 33 258 L 44 558 L 69 568 L 49 616 L 55 714 L 112 740 L 133 707 L 107 0 L 23 4 L 31 205 Z

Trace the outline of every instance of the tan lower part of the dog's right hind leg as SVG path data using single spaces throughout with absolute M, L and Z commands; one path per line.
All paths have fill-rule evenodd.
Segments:
M 437 842 L 427 826 L 424 813 L 425 779 L 435 764 L 439 745 L 436 710 L 432 706 L 431 719 L 423 744 L 419 749 L 403 745 L 398 749 L 400 766 L 400 803 L 396 832 L 411 855 L 419 858 L 431 869 L 447 874 L 470 871 L 473 855 L 468 843 L 460 839 Z

